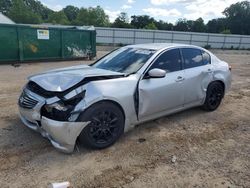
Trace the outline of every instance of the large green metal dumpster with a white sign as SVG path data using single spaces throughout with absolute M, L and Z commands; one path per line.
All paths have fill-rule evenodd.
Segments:
M 96 56 L 93 27 L 0 24 L 0 62 Z

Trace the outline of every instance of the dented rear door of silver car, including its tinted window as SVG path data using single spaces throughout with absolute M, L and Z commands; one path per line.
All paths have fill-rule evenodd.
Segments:
M 206 96 L 206 88 L 213 79 L 210 55 L 198 48 L 181 49 L 185 75 L 184 104 L 199 103 Z

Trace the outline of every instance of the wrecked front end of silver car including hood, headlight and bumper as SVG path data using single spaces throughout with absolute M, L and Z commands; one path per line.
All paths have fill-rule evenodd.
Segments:
M 87 108 L 88 83 L 120 77 L 124 74 L 87 65 L 31 76 L 19 98 L 21 119 L 29 128 L 48 138 L 57 149 L 70 153 L 89 123 L 78 122 L 79 115 Z

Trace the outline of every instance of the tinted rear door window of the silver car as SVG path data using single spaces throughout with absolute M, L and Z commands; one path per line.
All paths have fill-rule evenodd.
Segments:
M 183 48 L 182 54 L 186 69 L 204 65 L 201 50 L 194 48 Z

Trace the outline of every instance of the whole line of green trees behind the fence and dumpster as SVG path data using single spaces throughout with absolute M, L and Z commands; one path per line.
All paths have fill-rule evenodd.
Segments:
M 79 9 L 69 5 L 62 11 L 55 12 L 38 0 L 0 0 L 0 12 L 16 23 L 39 24 L 50 22 L 66 25 L 250 35 L 249 1 L 232 4 L 224 10 L 225 18 L 212 19 L 207 24 L 204 23 L 202 18 L 197 20 L 179 19 L 175 24 L 172 24 L 163 20 L 157 21 L 148 15 L 134 15 L 131 16 L 131 21 L 129 21 L 125 12 L 122 12 L 114 23 L 110 24 L 108 15 L 100 6 Z

